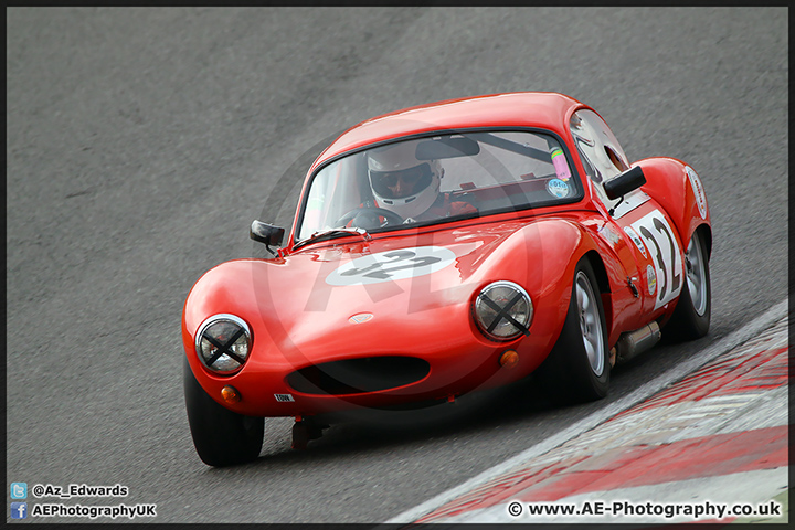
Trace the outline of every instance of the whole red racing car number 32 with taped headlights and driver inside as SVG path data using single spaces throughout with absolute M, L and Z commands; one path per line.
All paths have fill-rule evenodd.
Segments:
M 607 124 L 554 93 L 399 110 L 312 163 L 273 258 L 204 274 L 184 304 L 184 393 L 211 466 L 294 447 L 333 413 L 424 406 L 534 377 L 586 401 L 661 333 L 710 324 L 712 232 L 696 171 L 629 163 Z M 282 246 L 283 245 L 283 246 Z

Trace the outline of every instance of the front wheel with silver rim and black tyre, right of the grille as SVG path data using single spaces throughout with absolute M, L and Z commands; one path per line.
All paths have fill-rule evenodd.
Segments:
M 563 329 L 537 377 L 555 401 L 580 403 L 607 395 L 610 371 L 602 297 L 591 264 L 582 258 Z

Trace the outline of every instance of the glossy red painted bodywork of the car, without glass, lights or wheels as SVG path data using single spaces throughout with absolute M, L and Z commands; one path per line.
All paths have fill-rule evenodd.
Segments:
M 590 107 L 560 94 L 519 93 L 374 118 L 348 130 L 324 151 L 309 170 L 304 192 L 315 170 L 341 153 L 427 131 L 488 127 L 553 131 L 574 155 L 574 178 L 586 181 L 569 129 L 572 114 L 583 108 Z M 586 184 L 585 197 L 574 204 L 377 233 L 371 241 L 343 236 L 295 252 L 293 233 L 278 258 L 223 263 L 202 276 L 186 300 L 182 338 L 190 367 L 219 403 L 254 416 L 304 416 L 444 400 L 504 385 L 530 374 L 552 349 L 569 307 L 574 267 L 585 255 L 600 280 L 613 346 L 622 332 L 665 321 L 677 301 L 655 308 L 646 277 L 654 266 L 651 250 L 643 255 L 624 227 L 658 210 L 674 227 L 679 263 L 683 242 L 695 230 L 704 226 L 709 240 L 709 212 L 700 215 L 686 166 L 669 158 L 636 165 L 644 169 L 647 184 L 642 190 L 650 198 L 621 219 L 608 215 Z M 325 280 L 350 259 L 424 246 L 451 250 L 454 263 L 433 274 L 371 285 L 332 286 Z M 487 339 L 471 318 L 477 294 L 500 279 L 523 286 L 534 309 L 529 336 L 508 342 Z M 199 326 L 216 314 L 236 315 L 252 330 L 250 359 L 233 375 L 210 373 L 195 352 Z M 350 320 L 361 314 L 372 317 L 360 324 Z M 511 369 L 498 362 L 508 349 L 519 354 Z M 379 356 L 423 359 L 430 371 L 411 384 L 357 394 L 309 394 L 287 383 L 290 373 L 308 365 Z M 239 403 L 221 399 L 226 384 L 239 390 Z M 290 394 L 294 401 L 278 401 L 276 394 Z

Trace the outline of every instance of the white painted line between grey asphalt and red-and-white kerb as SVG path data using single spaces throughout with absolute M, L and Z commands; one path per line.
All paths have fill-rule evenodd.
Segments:
M 647 398 L 650 398 L 660 390 L 665 389 L 667 385 L 683 379 L 686 375 L 698 370 L 703 364 L 712 361 L 713 359 L 717 359 L 723 353 L 727 353 L 728 351 L 736 348 L 749 339 L 755 337 L 756 335 L 775 324 L 776 320 L 784 317 L 787 314 L 787 310 L 788 299 L 784 299 L 778 304 L 774 305 L 764 315 L 746 324 L 733 333 L 725 336 L 718 342 L 710 344 L 710 347 L 706 350 L 702 350 L 701 352 L 692 356 L 688 360 L 677 364 L 676 367 L 660 374 L 656 379 L 647 382 L 646 384 L 639 386 L 634 392 L 625 395 L 615 403 L 612 403 L 604 409 L 595 411 L 593 414 L 583 417 L 582 420 L 574 423 L 570 427 L 564 428 L 560 433 L 550 436 L 543 442 L 539 442 L 532 447 L 524 449 L 523 452 L 505 460 L 501 464 L 497 464 L 496 466 L 486 469 L 481 474 L 470 478 L 460 486 L 448 489 L 447 491 L 444 491 L 436 497 L 426 500 L 422 505 L 411 508 L 396 517 L 393 517 L 392 519 L 386 521 L 385 524 L 414 522 L 421 517 L 432 512 L 436 508 L 460 497 L 462 495 L 491 480 L 492 478 L 496 478 L 497 476 L 512 469 L 513 467 L 517 467 L 518 465 L 527 460 L 541 456 L 544 453 L 558 447 L 559 445 L 564 444 L 569 439 L 579 436 L 580 434 L 610 420 L 619 412 L 623 412 L 630 406 L 646 400 Z

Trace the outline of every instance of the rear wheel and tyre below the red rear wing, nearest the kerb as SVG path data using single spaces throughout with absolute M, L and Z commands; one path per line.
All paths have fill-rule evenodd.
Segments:
M 709 253 L 699 231 L 693 232 L 685 252 L 687 282 L 682 286 L 674 315 L 665 326 L 667 340 L 695 340 L 709 331 L 712 314 L 712 285 L 710 283 Z

